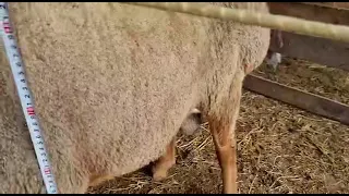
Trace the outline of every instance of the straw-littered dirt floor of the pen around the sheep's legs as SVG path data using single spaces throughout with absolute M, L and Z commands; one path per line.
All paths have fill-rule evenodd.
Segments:
M 284 59 L 276 74 L 254 72 L 349 103 L 349 73 Z M 349 127 L 250 91 L 237 126 L 240 193 L 349 193 Z M 177 142 L 169 177 L 152 182 L 147 169 L 88 193 L 220 193 L 220 169 L 207 125 Z

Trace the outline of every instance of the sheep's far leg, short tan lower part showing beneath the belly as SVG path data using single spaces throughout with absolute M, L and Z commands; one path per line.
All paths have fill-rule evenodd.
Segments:
M 166 146 L 163 155 L 153 167 L 153 180 L 161 181 L 167 177 L 168 170 L 176 164 L 176 137 Z

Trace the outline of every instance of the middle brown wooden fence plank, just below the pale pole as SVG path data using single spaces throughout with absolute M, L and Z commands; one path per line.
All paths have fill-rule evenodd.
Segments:
M 276 38 L 273 38 L 270 51 L 349 71 L 349 44 L 288 32 L 281 34 L 284 47 L 279 48 Z

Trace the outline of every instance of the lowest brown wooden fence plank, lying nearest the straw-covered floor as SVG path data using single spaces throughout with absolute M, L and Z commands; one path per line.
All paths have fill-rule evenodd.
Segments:
M 243 87 L 314 114 L 349 125 L 349 106 L 347 105 L 291 88 L 255 75 L 248 75 L 244 79 Z

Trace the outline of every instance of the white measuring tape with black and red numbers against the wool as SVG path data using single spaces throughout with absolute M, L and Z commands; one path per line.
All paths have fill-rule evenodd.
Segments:
M 17 49 L 17 44 L 15 41 L 12 27 L 10 25 L 8 4 L 5 2 L 0 2 L 0 23 L 2 23 L 0 25 L 0 34 L 11 65 L 11 71 L 20 96 L 26 124 L 31 132 L 32 142 L 36 158 L 39 163 L 46 191 L 48 194 L 57 194 L 58 191 L 55 176 L 52 174 L 48 154 L 45 148 L 39 123 L 35 114 L 31 90 L 24 74 L 24 64 Z

